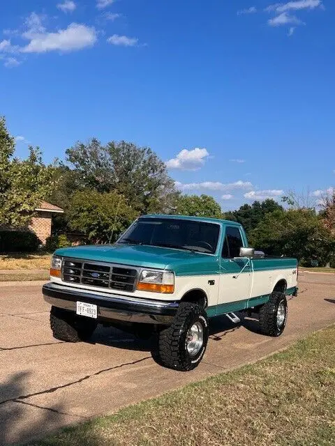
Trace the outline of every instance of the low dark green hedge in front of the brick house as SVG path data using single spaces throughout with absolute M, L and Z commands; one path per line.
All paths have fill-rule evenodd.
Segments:
M 0 252 L 36 252 L 41 241 L 34 232 L 0 231 Z

